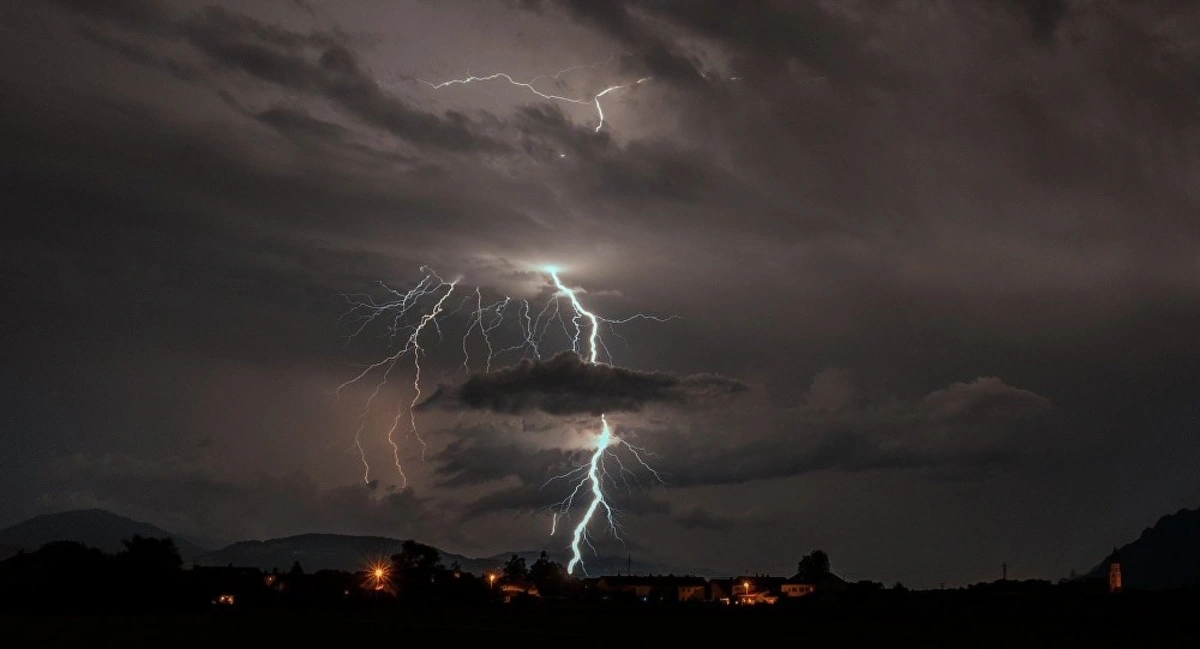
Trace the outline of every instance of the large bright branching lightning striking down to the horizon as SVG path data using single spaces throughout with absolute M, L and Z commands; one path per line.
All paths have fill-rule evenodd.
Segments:
M 397 439 L 397 433 L 402 427 L 401 421 L 406 420 L 406 415 L 408 422 L 406 438 L 413 437 L 420 443 L 424 457 L 426 443 L 418 432 L 415 410 L 422 395 L 421 355 L 426 351 L 422 343 L 422 333 L 426 333 L 427 330 L 432 329 L 440 338 L 443 336 L 443 326 L 449 325 L 448 320 L 450 318 L 462 318 L 460 326 L 464 327 L 464 333 L 461 342 L 461 368 L 463 372 L 469 373 L 472 371 L 470 338 L 473 336 L 480 338 L 480 342 L 475 344 L 481 344 L 486 351 L 486 356 L 481 361 L 484 372 L 491 372 L 492 363 L 498 357 L 509 354 L 540 359 L 542 356 L 542 348 L 548 344 L 547 338 L 551 337 L 551 331 L 557 329 L 562 330 L 563 339 L 572 351 L 580 354 L 587 362 L 596 365 L 599 362 L 612 361 L 612 354 L 604 342 L 602 330 L 606 326 L 612 331 L 613 325 L 625 324 L 636 319 L 668 322 L 674 318 L 673 316 L 660 318 L 644 313 L 636 313 L 623 319 L 602 318 L 583 306 L 580 300 L 580 294 L 583 290 L 565 284 L 559 277 L 558 269 L 554 266 L 540 269 L 540 272 L 548 276 L 550 283 L 553 287 L 548 299 L 540 308 L 530 304 L 529 300 L 518 300 L 510 296 L 485 300 L 485 292 L 481 288 L 475 288 L 475 290 L 466 292 L 464 294 L 462 290 L 457 290 L 456 293 L 456 289 L 460 289 L 460 280 L 446 281 L 427 266 L 422 266 L 421 271 L 425 276 L 408 290 L 398 290 L 380 284 L 386 292 L 385 300 L 376 300 L 370 295 L 361 294 L 346 296 L 350 302 L 350 310 L 343 314 L 343 319 L 358 319 L 349 336 L 350 339 L 362 335 L 372 324 L 383 323 L 383 337 L 391 343 L 395 343 L 397 339 L 402 341 L 396 351 L 383 360 L 367 365 L 354 378 L 338 386 L 338 393 L 341 393 L 342 390 L 362 381 L 368 375 L 378 375 L 366 398 L 365 408 L 358 417 L 354 434 L 354 447 L 358 450 L 364 467 L 362 480 L 368 485 L 371 483 L 371 464 L 367 461 L 367 453 L 362 445 L 362 435 L 367 426 L 368 415 L 373 403 L 384 391 L 396 366 L 408 356 L 412 356 L 413 362 L 412 395 L 410 398 L 398 403 L 391 427 L 385 435 L 388 444 L 392 449 L 392 461 L 400 475 L 400 488 L 404 488 L 408 485 L 408 476 L 401 463 L 400 440 Z M 456 294 L 463 294 L 463 298 L 457 302 L 457 307 L 448 308 L 451 296 Z M 564 307 L 563 304 L 566 306 Z M 427 308 L 427 311 L 422 313 L 422 308 Z M 511 316 L 511 318 L 508 316 Z M 505 326 L 505 323 L 514 324 Z M 558 325 L 557 327 L 554 326 L 556 324 Z M 509 331 L 517 342 L 508 347 L 497 344 L 497 337 L 503 331 Z M 616 335 L 614 331 L 612 332 Z M 557 337 L 558 333 L 553 336 Z M 653 475 L 656 481 L 662 482 L 659 473 L 646 462 L 646 457 L 650 456 L 650 453 L 646 449 L 635 446 L 613 434 L 605 415 L 600 416 L 600 432 L 589 447 L 588 462 L 565 474 L 553 476 L 547 481 L 547 483 L 554 480 L 574 480 L 575 482 L 568 497 L 552 507 L 551 535 L 557 533 L 560 519 L 571 517 L 571 509 L 576 497 L 587 494 L 589 499 L 587 509 L 572 530 L 570 543 L 572 557 L 568 565 L 569 573 L 574 573 L 577 566 L 583 567 L 582 548 L 584 546 L 593 551 L 595 549 L 592 545 L 588 527 L 598 511 L 602 510 L 613 537 L 620 540 L 617 510 L 606 498 L 605 489 L 620 485 L 628 488 L 630 486 L 629 477 L 636 476 L 636 474 L 626 467 L 625 462 L 629 462 L 629 459 L 622 461 L 617 451 L 625 452 L 641 469 Z

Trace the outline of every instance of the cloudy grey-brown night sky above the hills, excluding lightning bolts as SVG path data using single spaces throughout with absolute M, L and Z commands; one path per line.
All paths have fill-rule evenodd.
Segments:
M 599 130 L 430 85 L 572 66 L 536 88 L 630 84 Z M 0 525 L 560 552 L 601 411 L 662 482 L 596 549 L 685 570 L 1057 579 L 1200 505 L 1195 2 L 8 2 L 0 142 Z M 464 368 L 547 264 L 673 318 Z M 412 360 L 365 481 L 379 383 L 337 389 L 403 341 L 343 316 L 422 266 L 470 301 L 401 489 Z

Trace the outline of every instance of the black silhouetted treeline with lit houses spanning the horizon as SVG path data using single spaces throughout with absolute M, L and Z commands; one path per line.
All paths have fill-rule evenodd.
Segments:
M 678 596 L 680 578 L 578 578 L 569 576 L 565 567 L 550 560 L 546 553 L 530 565 L 514 554 L 494 571 L 475 575 L 455 564 L 444 565 L 439 552 L 431 546 L 406 541 L 391 557 L 380 557 L 374 561 L 364 558 L 361 571 L 319 570 L 310 573 L 299 561 L 287 570 L 271 571 L 238 566 L 185 569 L 170 539 L 133 536 L 122 543 L 122 551 L 106 553 L 77 542 L 59 541 L 0 561 L 0 613 L 270 608 L 419 611 L 421 607 L 470 607 L 500 602 L 517 606 L 562 602 L 556 606 L 605 608 L 624 603 L 661 611 L 662 607 L 655 605 L 682 603 Z M 1100 612 L 1103 618 L 1114 607 L 1126 613 L 1144 608 L 1157 614 L 1200 602 L 1200 589 L 1166 594 L 1110 594 L 1105 583 L 1086 579 L 1058 584 L 1038 579 L 1001 579 L 944 590 L 910 590 L 899 583 L 884 587 L 870 581 L 847 583 L 830 572 L 828 555 L 821 551 L 805 555 L 797 569 L 792 579 L 811 583 L 815 590 L 796 597 L 781 594 L 769 608 L 798 614 L 832 612 L 916 617 L 980 613 L 1037 617 Z M 605 581 L 610 583 L 601 583 Z M 746 577 L 740 583 L 758 590 L 772 588 L 769 584 L 773 581 L 782 579 Z M 708 605 L 715 606 L 718 601 L 730 603 L 738 599 L 737 582 L 725 583 L 734 590 L 722 591 L 724 597 L 718 597 L 716 582 L 731 579 L 701 582 L 710 589 L 703 600 Z M 642 590 L 643 585 L 646 590 Z M 636 587 L 637 590 L 628 587 Z M 696 608 L 692 603 L 689 602 L 689 606 Z

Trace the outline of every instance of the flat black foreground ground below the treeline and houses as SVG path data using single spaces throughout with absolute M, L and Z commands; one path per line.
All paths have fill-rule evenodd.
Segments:
M 360 612 L 2 615 L 0 647 L 1200 647 L 1188 601 L 875 611 L 496 606 Z M 662 643 L 662 644 L 660 644 Z

